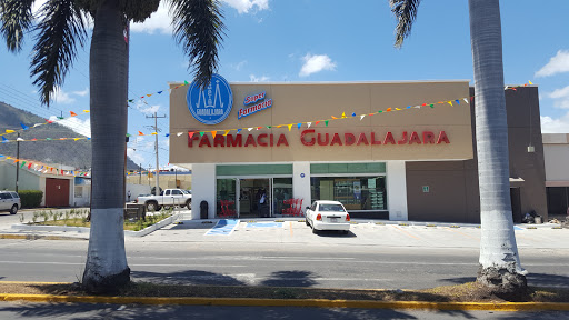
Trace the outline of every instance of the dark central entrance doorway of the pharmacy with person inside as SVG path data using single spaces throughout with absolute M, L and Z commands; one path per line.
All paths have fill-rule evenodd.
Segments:
M 272 179 L 239 179 L 239 218 L 272 217 Z

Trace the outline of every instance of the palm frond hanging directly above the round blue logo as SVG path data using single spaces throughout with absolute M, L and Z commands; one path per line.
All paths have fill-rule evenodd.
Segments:
M 204 87 L 218 68 L 218 47 L 224 36 L 223 14 L 217 0 L 170 0 L 176 41 L 190 59 L 188 69 Z

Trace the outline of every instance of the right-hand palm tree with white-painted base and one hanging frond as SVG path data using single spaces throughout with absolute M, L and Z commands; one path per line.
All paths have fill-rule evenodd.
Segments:
M 390 0 L 396 47 L 411 32 L 420 0 Z M 503 94 L 499 0 L 469 0 L 475 70 L 476 143 L 480 186 L 480 268 L 477 281 L 495 292 L 525 290 L 510 202 L 508 124 Z

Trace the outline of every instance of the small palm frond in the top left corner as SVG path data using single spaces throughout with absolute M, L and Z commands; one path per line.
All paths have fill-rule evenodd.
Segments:
M 31 4 L 34 0 L 0 0 L 0 34 L 6 39 L 8 50 L 22 49 L 23 34 L 33 20 Z

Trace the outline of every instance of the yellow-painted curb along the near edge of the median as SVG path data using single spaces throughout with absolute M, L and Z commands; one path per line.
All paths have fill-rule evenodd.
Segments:
M 248 298 L 167 298 L 167 297 L 96 297 L 0 293 L 0 301 L 80 302 L 112 304 L 178 304 L 178 306 L 232 306 L 232 307 L 313 307 L 361 309 L 429 309 L 477 311 L 568 311 L 569 303 L 560 302 L 421 302 L 370 301 L 326 299 L 248 299 Z

